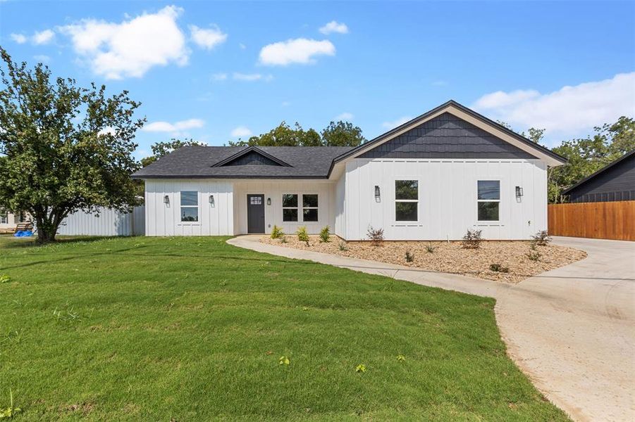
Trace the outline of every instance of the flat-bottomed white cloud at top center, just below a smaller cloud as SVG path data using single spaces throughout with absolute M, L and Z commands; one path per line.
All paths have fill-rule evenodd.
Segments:
M 291 63 L 308 65 L 315 63 L 314 56 L 335 56 L 335 46 L 328 39 L 288 39 L 264 46 L 260 50 L 260 63 L 281 66 Z

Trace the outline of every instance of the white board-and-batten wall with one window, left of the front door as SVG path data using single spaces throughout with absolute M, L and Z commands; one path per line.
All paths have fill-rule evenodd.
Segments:
M 197 191 L 198 222 L 180 221 L 180 192 Z M 209 196 L 214 195 L 214 205 Z M 168 196 L 169 203 L 164 203 Z M 147 179 L 146 236 L 227 236 L 234 234 L 233 184 L 210 179 Z

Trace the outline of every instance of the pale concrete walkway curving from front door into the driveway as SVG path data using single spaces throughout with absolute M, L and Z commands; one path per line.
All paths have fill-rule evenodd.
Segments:
M 555 238 L 588 257 L 510 285 L 266 245 L 259 238 L 228 243 L 495 298 L 510 357 L 551 402 L 577 421 L 635 421 L 634 242 Z

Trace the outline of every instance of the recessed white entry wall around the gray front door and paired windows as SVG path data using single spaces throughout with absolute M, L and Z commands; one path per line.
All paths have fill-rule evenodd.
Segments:
M 282 196 L 298 195 L 298 222 L 282 221 Z M 302 222 L 302 193 L 317 193 L 318 222 Z M 317 234 L 324 226 L 335 227 L 335 183 L 327 180 L 249 180 L 234 183 L 234 232 L 247 234 L 247 194 L 264 194 L 264 226 L 271 233 L 275 224 L 285 234 L 294 234 L 300 226 L 307 226 L 309 234 Z M 271 205 L 267 199 L 271 198 Z

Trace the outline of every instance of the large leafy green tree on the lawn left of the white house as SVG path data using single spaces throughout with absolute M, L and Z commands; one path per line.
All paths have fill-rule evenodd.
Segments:
M 29 212 L 39 243 L 54 241 L 71 212 L 129 210 L 140 103 L 54 79 L 42 63 L 13 63 L 1 47 L 0 56 L 0 207 Z

